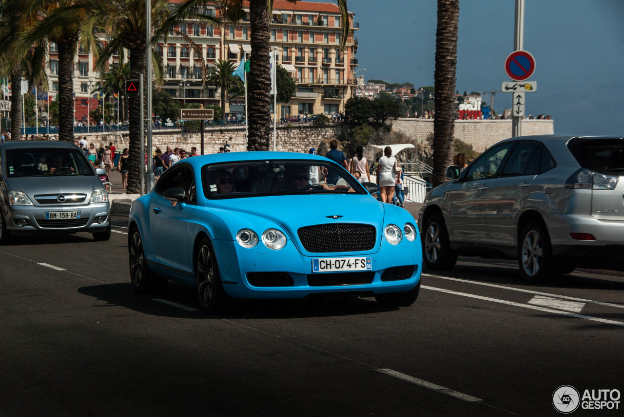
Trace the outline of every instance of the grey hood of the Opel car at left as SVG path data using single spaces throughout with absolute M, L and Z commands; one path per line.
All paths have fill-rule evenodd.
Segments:
M 13 191 L 25 192 L 29 197 L 38 194 L 87 194 L 101 188 L 95 176 L 17 177 L 4 179 Z

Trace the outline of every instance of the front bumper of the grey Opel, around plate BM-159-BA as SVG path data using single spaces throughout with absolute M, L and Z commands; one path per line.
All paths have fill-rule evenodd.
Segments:
M 80 212 L 80 218 L 46 220 L 46 212 Z M 12 205 L 6 207 L 6 228 L 11 234 L 102 232 L 110 226 L 110 203 L 52 206 Z M 21 220 L 23 222 L 21 222 Z M 101 221 L 101 223 L 99 222 Z M 23 224 L 23 225 L 20 225 Z

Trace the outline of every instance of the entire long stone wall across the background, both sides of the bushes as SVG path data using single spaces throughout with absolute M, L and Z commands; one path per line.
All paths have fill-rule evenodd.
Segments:
M 511 120 L 457 120 L 455 122 L 455 138 L 471 144 L 477 152 L 483 152 L 493 144 L 511 137 Z M 392 124 L 392 130 L 406 134 L 419 143 L 427 143 L 427 139 L 433 138 L 432 119 L 409 119 L 399 118 Z M 530 134 L 553 134 L 554 121 L 551 120 L 523 120 L 522 135 Z M 331 139 L 338 138 L 341 134 L 350 133 L 349 127 L 337 126 L 311 126 L 294 125 L 291 128 L 278 126 L 277 128 L 277 151 L 307 152 L 310 148 L 319 148 L 321 142 L 329 143 Z M 87 136 L 89 143 L 97 146 L 101 143 L 112 142 L 118 151 L 128 146 L 128 133 L 102 134 L 92 133 Z M 207 128 L 204 131 L 204 153 L 218 152 L 219 147 L 228 143 L 232 152 L 245 151 L 245 127 Z M 154 146 L 165 151 L 167 145 L 172 148 L 183 148 L 190 152 L 192 146 L 200 152 L 200 134 L 184 133 L 179 129 L 158 130 L 152 133 Z M 273 129 L 270 130 L 269 149 L 273 150 Z

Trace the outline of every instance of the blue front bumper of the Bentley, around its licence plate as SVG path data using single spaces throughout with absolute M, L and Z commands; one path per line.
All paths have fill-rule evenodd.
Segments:
M 213 248 L 223 288 L 233 298 L 275 299 L 399 293 L 414 288 L 422 272 L 419 236 L 414 241 L 407 241 L 404 238 L 397 246 L 392 246 L 384 240 L 376 252 L 319 253 L 313 256 L 302 255 L 292 241 L 288 241 L 286 246 L 278 251 L 270 250 L 262 243 L 249 249 L 238 245 L 236 241 L 223 240 L 213 241 Z M 352 273 L 312 272 L 313 258 L 365 256 L 372 258 L 373 267 L 369 274 L 353 273 L 347 277 L 344 274 Z M 409 269 L 410 266 L 412 269 Z M 263 275 L 275 278 L 270 286 L 259 286 L 258 276 Z M 286 278 L 288 276 L 290 279 Z M 263 279 L 260 281 L 266 283 Z

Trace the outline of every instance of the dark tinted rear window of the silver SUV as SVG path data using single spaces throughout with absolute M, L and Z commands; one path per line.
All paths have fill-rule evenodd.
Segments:
M 624 172 L 624 139 L 572 139 L 568 149 L 581 167 L 600 174 Z

